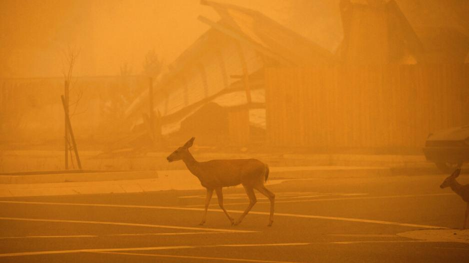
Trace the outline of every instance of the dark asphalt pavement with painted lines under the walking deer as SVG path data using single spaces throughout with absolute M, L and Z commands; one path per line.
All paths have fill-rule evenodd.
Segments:
M 232 227 L 203 190 L 0 198 L 0 262 L 469 262 L 465 203 L 444 175 L 309 178 L 267 187 Z M 274 180 L 272 180 L 274 181 Z M 469 183 L 467 175 L 458 181 Z M 237 218 L 241 187 L 225 188 Z

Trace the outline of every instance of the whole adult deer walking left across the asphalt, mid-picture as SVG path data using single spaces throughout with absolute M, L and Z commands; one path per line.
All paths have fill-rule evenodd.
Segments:
M 218 199 L 218 205 L 228 218 L 231 226 L 237 226 L 249 213 L 257 202 L 254 189 L 266 196 L 270 201 L 270 214 L 268 225 L 272 226 L 273 212 L 275 203 L 275 194 L 270 192 L 264 186 L 268 178 L 268 166 L 257 159 L 230 159 L 230 160 L 211 160 L 207 162 L 197 162 L 189 148 L 192 146 L 195 137 L 190 138 L 183 146 L 177 148 L 166 159 L 168 162 L 182 160 L 189 172 L 195 175 L 200 184 L 206 188 L 205 209 L 202 220 L 199 225 L 205 224 L 207 209 L 210 204 L 213 190 Z M 249 198 L 249 205 L 241 216 L 234 221 L 223 206 L 223 187 L 242 185 Z

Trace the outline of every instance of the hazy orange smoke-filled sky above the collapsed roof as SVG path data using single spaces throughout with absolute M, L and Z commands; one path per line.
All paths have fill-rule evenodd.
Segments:
M 223 2 L 261 11 L 329 50 L 340 40 L 338 0 Z M 125 63 L 139 74 L 149 50 L 170 63 L 207 30 L 199 15 L 218 19 L 199 0 L 0 0 L 0 77 L 60 76 L 69 47 L 79 50 L 75 76 L 116 75 Z

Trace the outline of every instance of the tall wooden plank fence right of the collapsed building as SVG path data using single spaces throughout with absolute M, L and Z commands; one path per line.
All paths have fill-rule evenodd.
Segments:
M 428 133 L 469 124 L 469 65 L 267 68 L 273 146 L 422 147 Z

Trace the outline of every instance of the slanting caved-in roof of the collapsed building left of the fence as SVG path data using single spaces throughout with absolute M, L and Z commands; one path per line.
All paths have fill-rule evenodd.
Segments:
M 333 63 L 329 51 L 258 11 L 214 1 L 201 3 L 214 8 L 221 19 L 213 22 L 199 17 L 211 27 L 155 81 L 155 110 L 160 111 L 162 122 L 167 125 L 180 122 L 209 101 L 225 107 L 248 104 L 239 77 L 244 70 L 251 83 L 251 105 L 258 108 L 265 99 L 263 89 L 258 90 L 262 76 L 257 72 L 265 65 Z M 243 53 L 247 68 L 243 69 L 238 52 Z M 224 79 L 222 71 L 227 75 Z M 145 91 L 126 109 L 125 116 L 141 122 L 141 111 L 145 110 L 139 109 L 147 99 Z

